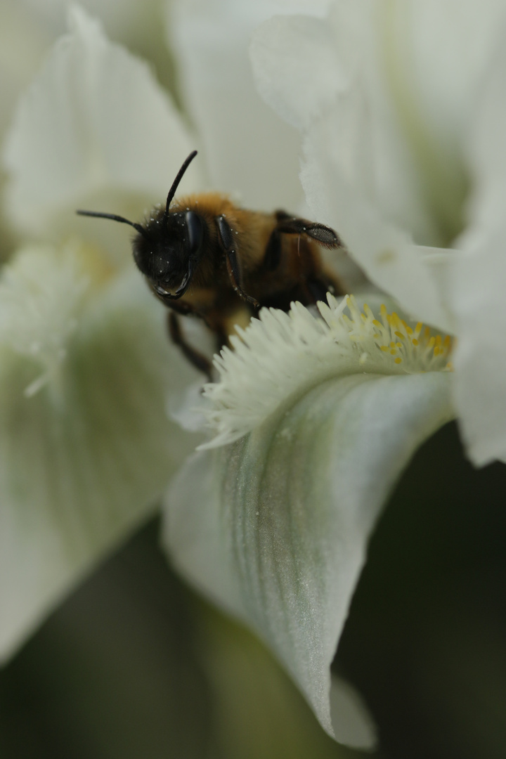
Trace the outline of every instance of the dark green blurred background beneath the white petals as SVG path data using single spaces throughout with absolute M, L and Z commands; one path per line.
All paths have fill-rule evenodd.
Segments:
M 369 546 L 335 660 L 385 759 L 506 756 L 506 467 L 448 425 Z M 352 759 L 252 636 L 168 571 L 146 527 L 0 672 L 1 759 Z

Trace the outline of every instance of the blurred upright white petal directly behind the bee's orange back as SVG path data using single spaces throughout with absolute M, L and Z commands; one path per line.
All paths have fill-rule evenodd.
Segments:
M 181 95 L 199 128 L 212 186 L 252 208 L 297 209 L 300 137 L 256 92 L 248 55 L 251 32 L 280 4 L 178 0 L 170 11 Z

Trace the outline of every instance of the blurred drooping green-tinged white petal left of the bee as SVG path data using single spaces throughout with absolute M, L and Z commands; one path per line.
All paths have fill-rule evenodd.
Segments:
M 65 320 L 61 259 L 39 255 L 57 283 L 47 295 Z M 35 285 L 25 289 L 27 307 L 45 297 Z M 165 416 L 167 392 L 195 373 L 168 343 L 164 315 L 137 272 L 85 298 L 74 329 L 58 336 L 59 363 L 31 395 L 24 390 L 40 377 L 39 354 L 13 349 L 15 334 L 0 346 L 0 658 L 152 513 L 195 445 Z M 54 310 L 39 309 L 46 326 Z M 21 344 L 27 335 L 22 326 Z

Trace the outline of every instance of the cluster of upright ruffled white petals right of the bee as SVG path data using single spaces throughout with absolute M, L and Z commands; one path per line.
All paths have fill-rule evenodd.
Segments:
M 306 200 L 372 281 L 457 335 L 469 455 L 506 460 L 506 6 L 334 0 L 252 48 L 259 89 L 303 133 Z

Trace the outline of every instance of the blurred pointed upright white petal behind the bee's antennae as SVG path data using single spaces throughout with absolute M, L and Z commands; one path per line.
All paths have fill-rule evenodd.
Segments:
M 77 6 L 70 21 L 21 99 L 4 154 L 12 222 L 53 237 L 86 234 L 91 225 L 76 219 L 78 207 L 135 216 L 164 200 L 194 147 L 148 66 L 109 43 Z M 184 188 L 198 178 L 192 168 Z

